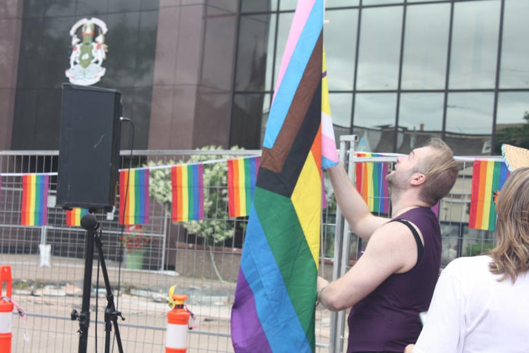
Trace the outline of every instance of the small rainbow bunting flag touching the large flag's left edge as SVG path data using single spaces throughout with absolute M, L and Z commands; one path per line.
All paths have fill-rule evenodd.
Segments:
M 260 157 L 228 160 L 228 210 L 230 217 L 250 214 Z

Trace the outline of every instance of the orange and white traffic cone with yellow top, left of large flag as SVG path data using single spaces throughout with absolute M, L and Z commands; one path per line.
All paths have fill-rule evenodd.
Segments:
M 185 294 L 172 294 L 174 309 L 167 313 L 167 332 L 165 353 L 187 352 L 187 330 L 189 330 L 189 312 L 185 310 Z

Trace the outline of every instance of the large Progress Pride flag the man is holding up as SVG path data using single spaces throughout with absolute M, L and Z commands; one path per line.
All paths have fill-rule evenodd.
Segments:
M 284 50 L 231 309 L 236 353 L 315 352 L 323 10 L 298 1 Z

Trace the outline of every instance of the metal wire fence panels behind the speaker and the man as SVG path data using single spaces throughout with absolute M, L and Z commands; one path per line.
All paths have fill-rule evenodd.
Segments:
M 395 157 L 355 159 L 353 145 L 342 146 L 345 164 L 362 161 L 395 161 Z M 121 152 L 121 168 L 140 167 L 147 163 L 171 165 L 199 159 L 227 159 L 260 154 L 260 151 L 130 151 Z M 350 157 L 346 160 L 346 157 Z M 11 265 L 14 281 L 13 299 L 27 312 L 27 321 L 14 317 L 12 352 L 74 351 L 79 344 L 79 323 L 71 321 L 72 309 L 81 311 L 85 231 L 65 226 L 65 211 L 54 207 L 56 175 L 50 177 L 48 225 L 27 227 L 20 224 L 21 174 L 56 172 L 56 151 L 0 152 L 0 264 Z M 473 159 L 458 159 L 459 179 L 441 203 L 439 219 L 443 234 L 442 264 L 457 256 L 480 254 L 494 243 L 493 232 L 468 229 L 468 203 Z M 151 172 L 151 183 L 159 183 L 158 196 L 151 193 L 150 222 L 141 233 L 125 234 L 145 240 L 142 260 L 130 259 L 120 239 L 118 211 L 98 214 L 103 230 L 103 250 L 118 310 L 125 352 L 163 352 L 167 291 L 189 296 L 188 305 L 198 315 L 200 325 L 189 332 L 189 352 L 233 352 L 229 336 L 229 317 L 239 268 L 247 219 L 227 215 L 226 163 L 206 164 L 205 223 L 212 234 L 195 232 L 198 225 L 172 223 L 170 205 L 163 199 L 170 189 L 168 170 Z M 165 174 L 164 174 L 165 173 Z M 351 173 L 351 177 L 353 174 Z M 169 177 L 170 179 L 170 177 Z M 349 231 L 336 212 L 330 183 L 326 183 L 329 207 L 322 212 L 320 274 L 327 279 L 340 276 L 357 259 L 362 243 Z M 338 230 L 338 232 L 336 232 Z M 336 233 L 336 234 L 335 234 Z M 338 241 L 335 242 L 335 239 Z M 96 258 L 96 256 L 95 256 Z M 106 306 L 103 279 L 98 279 L 94 261 L 92 276 L 92 322 L 88 350 L 103 351 L 103 313 Z M 97 313 L 97 317 L 96 317 Z M 345 313 L 316 310 L 317 352 L 340 352 L 348 335 Z M 27 330 L 30 341 L 24 340 Z M 117 350 L 117 347 L 114 347 Z

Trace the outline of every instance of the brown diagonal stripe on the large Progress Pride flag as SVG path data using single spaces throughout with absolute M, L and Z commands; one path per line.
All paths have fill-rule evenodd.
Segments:
M 300 126 L 307 115 L 314 92 L 316 92 L 316 88 L 322 81 L 322 34 L 323 32 L 320 32 L 320 37 L 316 41 L 307 67 L 303 72 L 298 90 L 295 91 L 289 112 L 284 119 L 276 142 L 271 149 L 262 148 L 260 168 L 267 168 L 274 172 L 280 172 L 283 169 L 284 161 L 287 160 L 295 136 L 298 134 Z

